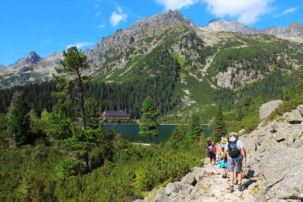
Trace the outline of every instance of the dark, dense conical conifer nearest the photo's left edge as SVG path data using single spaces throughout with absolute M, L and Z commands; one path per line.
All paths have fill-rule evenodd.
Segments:
M 29 109 L 25 102 L 24 94 L 21 92 L 10 111 L 8 129 L 6 131 L 6 136 L 12 140 L 13 147 L 27 143 L 30 135 L 28 113 Z

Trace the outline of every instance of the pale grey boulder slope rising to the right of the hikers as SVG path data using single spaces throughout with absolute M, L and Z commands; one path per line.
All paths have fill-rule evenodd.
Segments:
M 303 105 L 242 135 L 248 158 L 243 170 L 262 175 L 259 201 L 303 199 Z

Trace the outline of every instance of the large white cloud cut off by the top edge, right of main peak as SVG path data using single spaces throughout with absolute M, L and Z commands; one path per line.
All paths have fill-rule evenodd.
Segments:
M 238 18 L 244 24 L 255 23 L 262 15 L 274 10 L 271 3 L 275 0 L 203 0 L 207 11 L 216 17 Z

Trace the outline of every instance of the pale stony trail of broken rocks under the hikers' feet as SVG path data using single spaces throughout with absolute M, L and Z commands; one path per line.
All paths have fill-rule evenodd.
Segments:
M 219 163 L 210 166 L 205 159 L 203 168 L 192 168 L 192 172 L 182 178 L 180 182 L 167 184 L 155 191 L 151 191 L 143 201 L 191 201 L 191 202 L 216 202 L 216 201 L 257 201 L 256 195 L 262 191 L 263 186 L 260 177 L 249 176 L 243 173 L 243 189 L 234 192 L 229 190 L 229 178 L 222 178 L 222 169 Z

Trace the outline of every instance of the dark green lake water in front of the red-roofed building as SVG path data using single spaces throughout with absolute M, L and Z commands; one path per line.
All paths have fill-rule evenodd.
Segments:
M 104 128 L 108 132 L 110 131 L 113 125 L 105 125 Z M 141 143 L 149 143 L 149 137 L 141 137 L 139 135 L 139 125 L 115 125 L 117 129 L 117 133 L 121 134 L 122 138 L 127 139 L 129 142 L 141 142 Z M 158 144 L 161 141 L 167 142 L 171 133 L 177 125 L 160 125 L 159 136 L 153 137 L 153 142 Z M 203 132 L 206 137 L 211 136 L 213 129 L 209 129 L 208 126 L 202 126 Z

